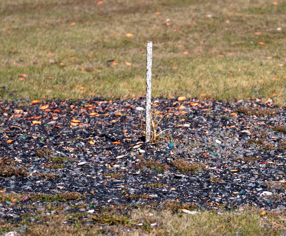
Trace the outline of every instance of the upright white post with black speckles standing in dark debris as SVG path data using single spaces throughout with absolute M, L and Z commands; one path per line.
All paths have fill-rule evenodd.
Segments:
M 151 93 L 152 93 L 152 41 L 147 42 L 146 61 L 146 113 L 145 142 L 150 142 L 151 136 Z

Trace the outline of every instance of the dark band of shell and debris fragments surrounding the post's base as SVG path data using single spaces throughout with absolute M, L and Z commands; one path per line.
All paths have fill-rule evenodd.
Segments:
M 89 213 L 166 201 L 285 208 L 285 108 L 271 99 L 158 98 L 158 136 L 152 128 L 146 144 L 144 102 L 1 101 L 1 218 L 46 202 Z

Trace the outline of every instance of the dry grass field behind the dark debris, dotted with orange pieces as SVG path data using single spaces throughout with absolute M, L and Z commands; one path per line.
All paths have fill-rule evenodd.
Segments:
M 152 40 L 154 97 L 282 105 L 285 10 L 266 0 L 0 1 L 0 97 L 142 95 Z

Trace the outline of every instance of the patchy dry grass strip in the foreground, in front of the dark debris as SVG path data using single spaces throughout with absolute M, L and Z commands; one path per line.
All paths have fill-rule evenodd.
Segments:
M 79 193 L 78 193 L 79 194 Z M 80 194 L 79 194 L 80 195 Z M 78 197 L 77 195 L 76 197 Z M 0 203 L 13 200 L 12 204 L 26 194 L 0 195 Z M 73 205 L 67 212 L 66 199 L 52 195 L 32 195 L 30 200 L 45 199 L 42 207 L 34 203 L 25 208 L 34 211 L 22 213 L 13 219 L 0 219 L 0 233 L 25 229 L 23 235 L 283 235 L 286 212 L 263 211 L 254 207 L 226 211 L 199 210 L 196 214 L 184 213 L 174 201 L 155 205 L 119 204 L 110 207 L 94 207 L 94 213 L 79 212 L 88 204 Z M 72 195 L 66 198 L 73 199 Z M 84 199 L 83 199 L 84 202 Z M 167 204 L 166 204 L 167 203 Z M 185 207 L 186 208 L 186 207 Z M 191 209 L 190 209 L 191 210 Z M 194 210 L 194 209 L 193 209 Z M 193 211 L 191 211 L 193 212 Z M 31 219 L 34 221 L 32 222 Z

